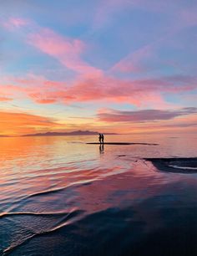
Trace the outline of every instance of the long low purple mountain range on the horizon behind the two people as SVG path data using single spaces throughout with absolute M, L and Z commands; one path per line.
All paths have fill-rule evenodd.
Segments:
M 71 131 L 71 132 L 55 132 L 49 131 L 46 133 L 35 133 L 23 135 L 23 137 L 28 136 L 93 136 L 98 135 L 98 131 Z M 104 133 L 104 135 L 116 135 L 116 133 Z

